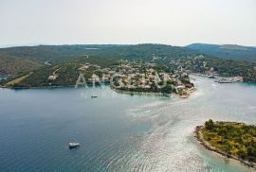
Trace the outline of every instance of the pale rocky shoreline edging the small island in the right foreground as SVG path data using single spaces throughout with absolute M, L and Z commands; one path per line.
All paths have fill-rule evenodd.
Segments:
M 220 149 L 218 149 L 214 146 L 211 146 L 210 143 L 208 143 L 207 141 L 205 141 L 203 139 L 203 135 L 201 133 L 201 129 L 203 129 L 203 128 L 204 128 L 203 126 L 197 126 L 194 130 L 194 137 L 196 138 L 197 142 L 200 145 L 204 146 L 206 149 L 208 149 L 212 152 L 217 153 L 218 155 L 221 155 L 223 157 L 227 157 L 231 160 L 234 160 L 234 161 L 239 162 L 239 163 L 243 163 L 243 164 L 247 165 L 248 167 L 256 169 L 256 163 L 247 162 L 247 161 L 245 161 L 245 160 L 243 160 L 243 159 L 241 159 L 237 156 L 230 155 L 230 154 L 228 154 L 228 153 L 226 153 L 226 152 L 224 152 L 224 151 L 222 151 L 222 150 L 220 150 Z

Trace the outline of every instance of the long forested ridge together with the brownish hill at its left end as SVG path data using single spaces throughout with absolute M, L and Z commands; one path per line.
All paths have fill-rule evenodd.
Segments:
M 195 57 L 196 51 L 165 44 L 74 44 L 37 45 L 0 48 L 0 75 L 14 75 L 39 67 L 39 63 L 57 64 L 78 57 L 115 58 L 123 60 L 153 60 L 154 57 Z M 103 63 L 102 60 L 101 63 Z

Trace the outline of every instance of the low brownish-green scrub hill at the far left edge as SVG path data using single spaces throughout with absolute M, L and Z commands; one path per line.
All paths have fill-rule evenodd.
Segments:
M 0 76 L 29 72 L 41 66 L 42 64 L 37 60 L 20 59 L 0 55 Z

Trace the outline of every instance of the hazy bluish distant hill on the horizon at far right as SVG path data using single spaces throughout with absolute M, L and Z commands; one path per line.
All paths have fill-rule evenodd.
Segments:
M 218 58 L 256 61 L 256 47 L 237 44 L 192 43 L 186 47 Z

